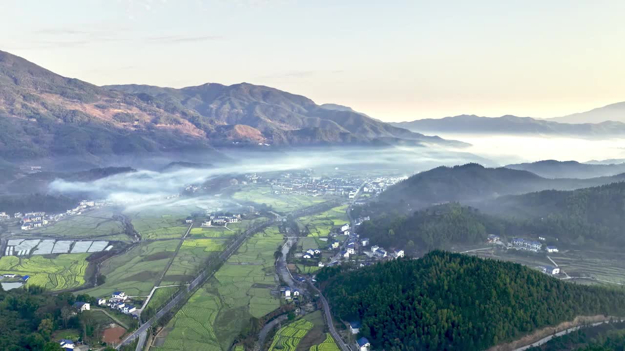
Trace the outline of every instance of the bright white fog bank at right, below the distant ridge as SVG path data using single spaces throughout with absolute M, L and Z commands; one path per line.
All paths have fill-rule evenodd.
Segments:
M 572 137 L 504 136 L 479 134 L 439 134 L 445 139 L 468 142 L 471 152 L 495 163 L 506 164 L 541 160 L 579 161 L 622 159 L 625 139 L 586 140 Z

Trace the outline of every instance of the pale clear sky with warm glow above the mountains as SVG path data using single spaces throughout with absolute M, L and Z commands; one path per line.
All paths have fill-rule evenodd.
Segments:
M 0 50 L 98 85 L 249 82 L 383 121 L 625 101 L 622 0 L 0 0 L 0 11 Z

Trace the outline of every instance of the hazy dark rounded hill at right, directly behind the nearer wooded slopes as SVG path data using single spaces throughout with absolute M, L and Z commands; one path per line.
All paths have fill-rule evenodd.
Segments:
M 392 185 L 379 199 L 405 209 L 419 209 L 440 202 L 479 204 L 501 195 L 544 189 L 577 189 L 625 179 L 625 174 L 592 179 L 546 179 L 527 171 L 486 168 L 479 164 L 437 167 Z

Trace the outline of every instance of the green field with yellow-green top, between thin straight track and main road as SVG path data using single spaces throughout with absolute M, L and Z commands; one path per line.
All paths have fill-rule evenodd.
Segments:
M 180 247 L 161 285 L 181 284 L 193 279 L 211 256 L 222 252 L 226 239 L 186 239 Z

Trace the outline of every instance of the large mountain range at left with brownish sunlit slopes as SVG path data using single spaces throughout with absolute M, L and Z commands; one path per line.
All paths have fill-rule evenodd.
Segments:
M 266 86 L 99 87 L 0 51 L 0 157 L 212 150 L 219 146 L 468 144 Z

